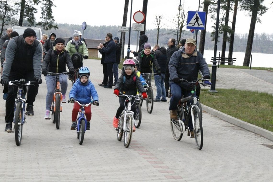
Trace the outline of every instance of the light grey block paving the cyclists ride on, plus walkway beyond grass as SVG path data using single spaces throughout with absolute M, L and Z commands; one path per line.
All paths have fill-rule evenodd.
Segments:
M 4 132 L 5 101 L 0 99 L 0 181 L 272 180 L 272 141 L 204 112 L 204 145 L 200 151 L 194 139 L 186 135 L 181 141 L 173 139 L 168 102 L 154 103 L 152 114 L 143 105 L 141 126 L 125 148 L 112 127 L 118 98 L 113 89 L 98 85 L 103 76 L 100 60 L 89 59 L 84 65 L 91 70 L 100 105 L 92 106 L 91 129 L 82 145 L 76 132 L 70 130 L 72 104 L 63 104 L 59 130 L 51 120 L 44 120 L 45 82 L 39 87 L 34 116 L 26 118 L 20 146 L 15 144 L 14 133 Z M 221 79 L 224 68 L 217 71 L 216 90 L 220 84 L 229 88 Z M 240 73 L 248 83 L 255 79 L 249 73 Z M 69 83 L 68 91 L 71 86 Z

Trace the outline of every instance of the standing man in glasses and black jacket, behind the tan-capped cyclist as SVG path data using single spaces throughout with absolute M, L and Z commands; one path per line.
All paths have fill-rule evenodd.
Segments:
M 165 78 L 164 78 L 164 82 L 165 82 L 165 90 L 166 90 L 166 97 L 170 97 L 171 96 L 171 90 L 170 90 L 170 94 L 169 94 L 169 78 L 170 78 L 170 73 L 169 73 L 169 62 L 171 59 L 171 56 L 173 55 L 173 53 L 177 50 L 179 50 L 176 46 L 175 46 L 175 39 L 171 38 L 168 40 L 168 48 L 167 48 L 167 67 L 166 67 L 166 74 L 165 74 Z

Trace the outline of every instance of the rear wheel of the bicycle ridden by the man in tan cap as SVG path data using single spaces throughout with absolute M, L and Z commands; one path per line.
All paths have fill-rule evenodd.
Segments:
M 177 107 L 177 116 L 179 119 L 182 119 L 182 108 L 180 106 Z M 170 118 L 170 124 L 171 124 L 171 133 L 173 134 L 173 138 L 176 139 L 177 141 L 180 141 L 183 134 L 179 124 L 179 120 L 173 120 Z

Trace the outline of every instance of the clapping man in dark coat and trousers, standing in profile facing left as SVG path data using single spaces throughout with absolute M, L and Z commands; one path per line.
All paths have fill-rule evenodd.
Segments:
M 112 39 L 113 35 L 107 33 L 106 35 L 106 46 L 102 43 L 99 44 L 98 49 L 102 49 L 102 52 L 105 54 L 105 63 L 107 67 L 108 75 L 108 85 L 103 86 L 103 88 L 112 88 L 113 85 L 113 64 L 116 62 L 116 44 Z

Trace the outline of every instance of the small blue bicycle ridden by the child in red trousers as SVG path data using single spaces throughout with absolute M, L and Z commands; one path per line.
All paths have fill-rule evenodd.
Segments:
M 70 101 L 68 101 L 68 102 L 72 103 Z M 86 132 L 86 125 L 87 125 L 87 120 L 85 117 L 84 108 L 90 106 L 92 103 L 94 105 L 94 102 L 93 102 L 93 100 L 88 104 L 81 104 L 76 100 L 75 100 L 75 102 L 81 106 L 81 109 L 78 112 L 78 117 L 76 120 L 76 130 L 77 130 L 77 138 L 79 139 L 79 144 L 82 145 L 82 142 L 84 141 L 84 134 Z

